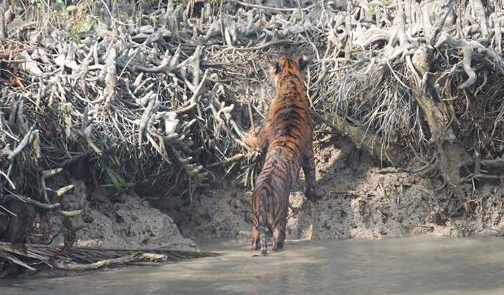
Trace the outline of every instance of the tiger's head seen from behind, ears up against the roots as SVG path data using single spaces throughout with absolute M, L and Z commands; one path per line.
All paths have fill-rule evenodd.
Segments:
M 272 62 L 271 74 L 273 76 L 273 81 L 275 81 L 275 87 L 280 89 L 282 85 L 284 85 L 285 81 L 289 80 L 298 81 L 298 84 L 302 86 L 302 73 L 310 62 L 311 58 L 308 56 L 295 58 L 291 55 L 282 56 L 277 62 Z

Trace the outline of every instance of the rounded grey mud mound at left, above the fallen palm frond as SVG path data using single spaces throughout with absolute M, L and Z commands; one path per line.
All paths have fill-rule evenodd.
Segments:
M 63 201 L 66 210 L 85 212 L 72 217 L 72 223 L 81 230 L 76 231 L 74 246 L 104 248 L 164 248 L 183 251 L 199 250 L 191 239 L 182 237 L 173 219 L 151 208 L 148 201 L 143 201 L 133 191 L 119 196 L 107 189 L 98 189 L 88 201 L 86 185 L 81 180 L 72 180 L 74 191 L 67 194 Z M 113 201 L 111 201 L 113 199 Z M 58 216 L 38 215 L 38 233 L 50 237 L 54 228 L 63 228 Z M 56 235 L 51 245 L 63 244 L 63 235 Z M 37 241 L 40 242 L 40 241 Z

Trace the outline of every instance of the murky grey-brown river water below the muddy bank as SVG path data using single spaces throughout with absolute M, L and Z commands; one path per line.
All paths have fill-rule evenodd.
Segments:
M 504 294 L 502 237 L 287 241 L 284 251 L 267 257 L 252 257 L 249 244 L 229 239 L 199 244 L 223 255 L 0 280 L 0 294 Z

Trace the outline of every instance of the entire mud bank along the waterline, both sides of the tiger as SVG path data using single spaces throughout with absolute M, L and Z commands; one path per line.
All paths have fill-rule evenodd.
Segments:
M 380 174 L 380 161 L 338 139 L 316 148 L 318 191 L 323 199 L 304 198 L 303 174 L 291 192 L 288 239 L 377 239 L 408 234 L 462 237 L 500 235 L 504 228 L 502 187 L 486 185 L 473 199 L 454 203 L 431 180 L 408 173 Z M 219 189 L 188 198 L 142 198 L 133 191 L 113 196 L 99 189 L 92 203 L 86 185 L 72 180 L 66 210 L 85 208 L 72 218 L 76 246 L 198 250 L 193 240 L 228 237 L 250 241 L 252 192 L 222 183 Z M 454 212 L 448 214 L 447 212 Z M 38 216 L 38 233 L 63 227 L 58 217 Z M 58 235 L 51 244 L 62 244 Z

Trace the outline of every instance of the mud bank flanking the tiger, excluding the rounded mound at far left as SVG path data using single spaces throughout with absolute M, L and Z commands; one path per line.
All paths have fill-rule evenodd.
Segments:
M 495 235 L 504 226 L 502 187 L 475 191 L 473 199 L 450 201 L 430 180 L 407 174 L 380 174 L 380 162 L 338 140 L 316 151 L 317 179 L 323 199 L 303 196 L 304 179 L 291 192 L 288 239 L 376 239 L 407 234 L 436 236 Z M 228 183 L 195 204 L 157 204 L 170 214 L 182 235 L 193 239 L 233 237 L 250 240 L 251 192 Z M 451 215 L 447 212 L 454 212 Z

